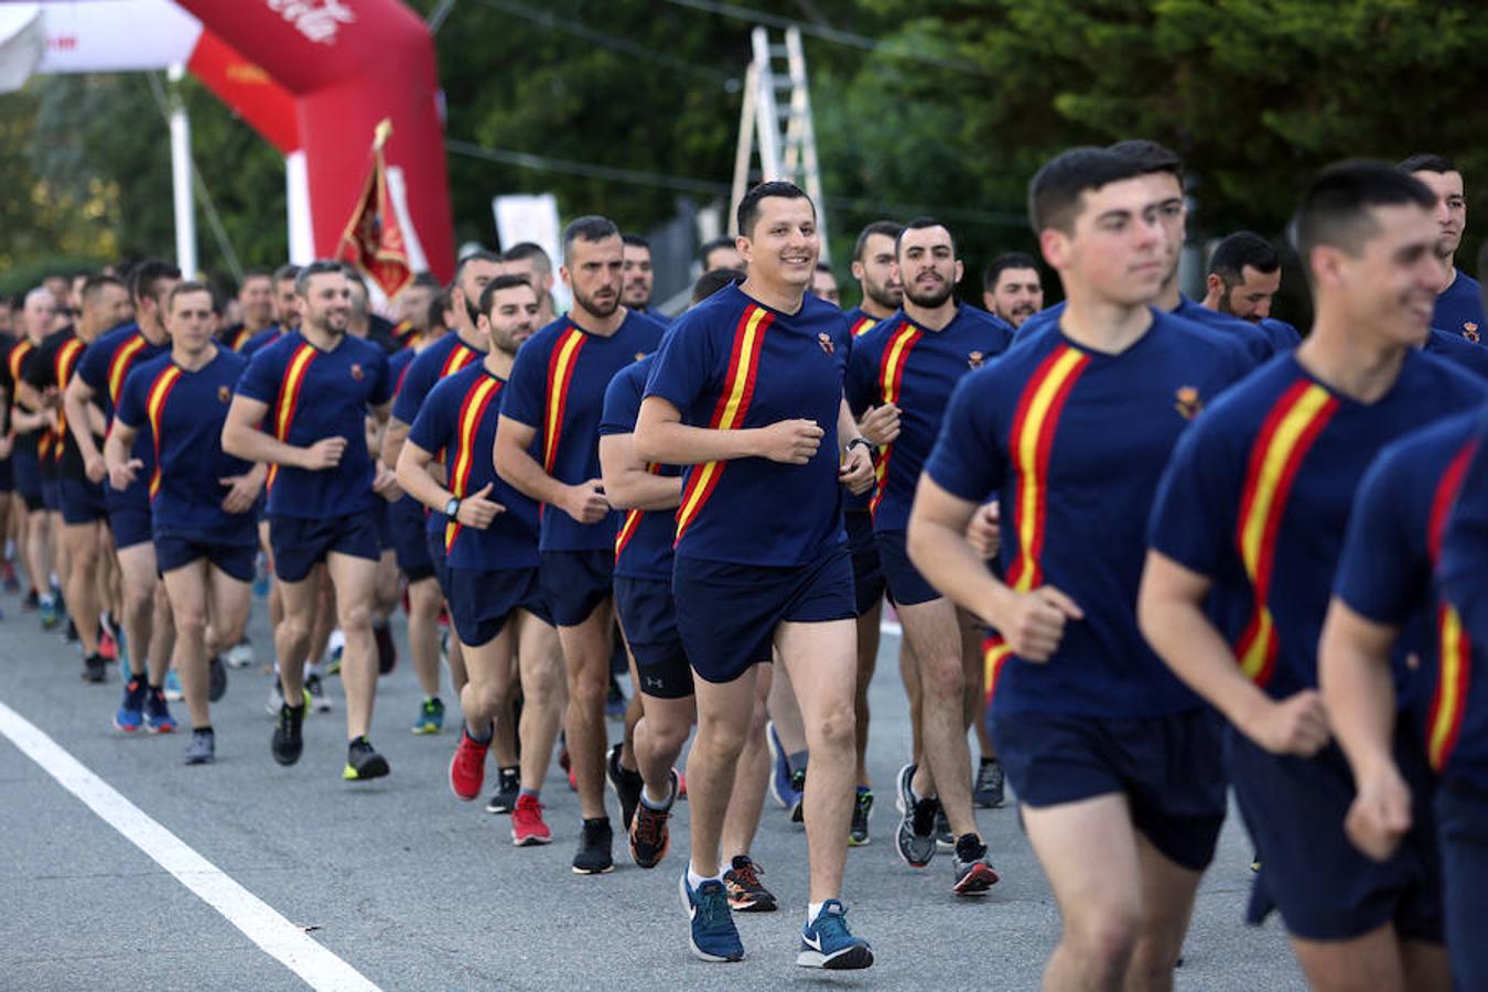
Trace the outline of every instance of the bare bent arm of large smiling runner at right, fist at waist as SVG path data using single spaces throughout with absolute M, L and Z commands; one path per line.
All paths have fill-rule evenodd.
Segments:
M 1309 757 L 1327 744 L 1327 714 L 1315 690 L 1272 702 L 1235 662 L 1204 613 L 1211 582 L 1149 550 L 1137 595 L 1137 622 L 1153 650 L 1189 689 L 1275 754 Z

